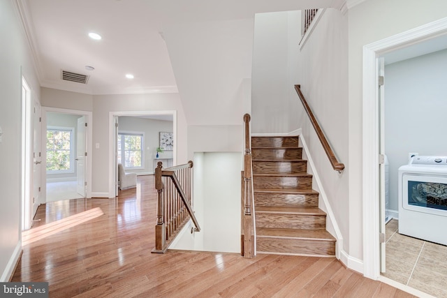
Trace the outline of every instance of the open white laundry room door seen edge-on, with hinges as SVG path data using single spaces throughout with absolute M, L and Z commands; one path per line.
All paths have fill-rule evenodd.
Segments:
M 383 57 L 377 59 L 377 73 L 378 77 L 378 92 L 379 96 L 379 231 L 381 233 L 381 243 L 380 243 L 380 271 L 385 272 L 386 267 L 386 202 L 385 202 L 385 85 L 384 75 L 385 75 L 385 59 Z

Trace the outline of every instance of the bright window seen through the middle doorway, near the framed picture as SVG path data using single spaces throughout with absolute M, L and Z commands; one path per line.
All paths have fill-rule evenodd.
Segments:
M 118 133 L 118 163 L 124 167 L 142 167 L 142 133 Z

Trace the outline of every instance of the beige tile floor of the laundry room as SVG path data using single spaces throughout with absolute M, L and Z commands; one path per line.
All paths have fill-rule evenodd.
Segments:
M 447 246 L 399 234 L 399 221 L 386 224 L 386 273 L 393 281 L 447 298 Z

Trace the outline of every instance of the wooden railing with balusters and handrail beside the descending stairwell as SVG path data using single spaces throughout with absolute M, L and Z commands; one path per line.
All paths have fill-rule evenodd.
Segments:
M 192 167 L 192 161 L 166 169 L 163 169 L 161 161 L 157 163 L 155 248 L 152 253 L 164 253 L 189 218 L 195 227 L 193 231 L 200 232 L 200 226 L 192 209 Z

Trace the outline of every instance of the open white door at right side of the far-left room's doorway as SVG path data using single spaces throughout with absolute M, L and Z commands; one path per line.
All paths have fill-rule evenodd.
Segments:
M 87 162 L 87 122 L 85 116 L 78 118 L 78 134 L 77 134 L 77 148 L 76 148 L 76 191 L 85 198 L 86 195 L 86 181 L 85 169 Z

